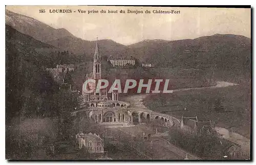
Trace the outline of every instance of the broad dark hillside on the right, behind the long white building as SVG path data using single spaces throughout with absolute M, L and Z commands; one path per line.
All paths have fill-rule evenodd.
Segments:
M 234 72 L 237 76 L 250 73 L 251 68 L 250 38 L 239 35 L 215 34 L 169 42 L 144 40 L 129 48 L 129 54 L 156 67 L 192 67 L 214 70 L 217 75 Z

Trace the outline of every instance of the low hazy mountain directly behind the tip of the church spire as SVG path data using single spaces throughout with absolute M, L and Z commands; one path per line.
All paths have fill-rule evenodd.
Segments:
M 127 46 L 113 40 L 103 39 L 98 42 L 102 56 L 123 56 L 122 53 L 129 50 Z M 92 57 L 92 54 L 95 51 L 96 41 L 88 41 L 77 37 L 67 36 L 47 41 L 46 43 L 52 44 L 59 49 L 65 49 L 76 54 L 85 54 L 88 57 Z

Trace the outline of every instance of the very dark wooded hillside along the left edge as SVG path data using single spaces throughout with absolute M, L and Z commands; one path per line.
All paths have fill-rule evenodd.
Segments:
M 44 114 L 41 92 L 53 90 L 54 82 L 44 70 L 46 55 L 37 49 L 53 46 L 42 43 L 6 25 L 6 122 L 12 117 Z M 49 103 L 48 103 L 49 104 Z M 45 104 L 46 105 L 46 104 Z

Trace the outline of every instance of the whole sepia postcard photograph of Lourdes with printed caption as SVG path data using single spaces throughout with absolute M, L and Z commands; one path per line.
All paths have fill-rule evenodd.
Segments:
M 6 6 L 6 160 L 251 161 L 251 6 Z

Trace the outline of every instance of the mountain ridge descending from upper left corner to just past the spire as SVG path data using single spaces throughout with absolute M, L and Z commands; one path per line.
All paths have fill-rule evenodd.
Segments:
M 94 53 L 96 41 L 83 40 L 75 37 L 66 29 L 54 29 L 34 18 L 13 13 L 6 10 L 6 24 L 17 31 L 30 35 L 33 38 L 54 45 L 59 50 L 69 50 L 76 54 L 85 54 L 91 57 Z M 102 56 L 123 56 L 127 46 L 113 40 L 99 40 Z

